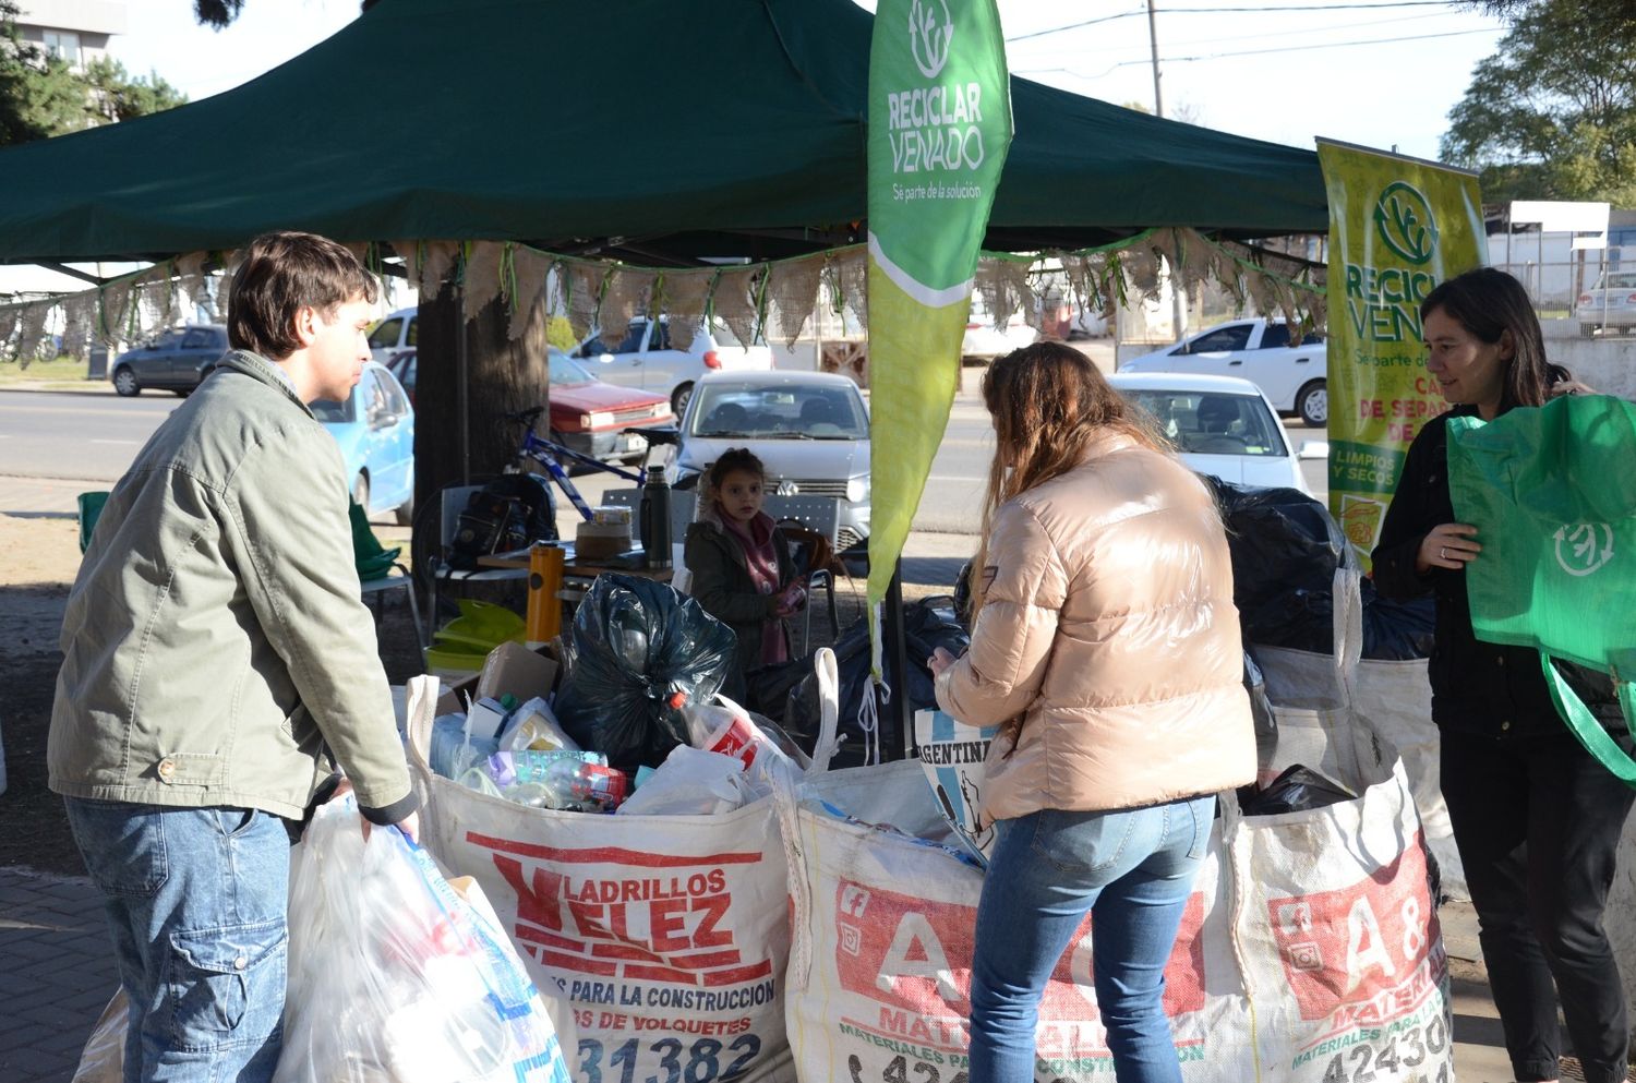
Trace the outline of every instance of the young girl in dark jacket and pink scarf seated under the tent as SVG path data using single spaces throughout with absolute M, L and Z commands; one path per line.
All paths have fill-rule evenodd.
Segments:
M 738 658 L 721 692 L 744 702 L 744 674 L 787 661 L 784 618 L 807 600 L 790 546 L 761 510 L 767 471 L 748 448 L 730 448 L 705 473 L 699 522 L 687 528 L 682 561 L 692 595 L 738 636 Z

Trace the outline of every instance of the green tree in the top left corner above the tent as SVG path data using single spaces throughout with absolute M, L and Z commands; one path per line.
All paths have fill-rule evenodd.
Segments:
M 187 95 L 157 74 L 133 79 L 118 61 L 83 72 L 23 41 L 15 0 L 0 0 L 0 147 L 159 113 Z

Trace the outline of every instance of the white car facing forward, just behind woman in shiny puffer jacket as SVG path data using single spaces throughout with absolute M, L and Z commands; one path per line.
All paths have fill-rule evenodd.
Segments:
M 1248 380 L 1114 373 L 1108 383 L 1158 422 L 1189 470 L 1235 486 L 1291 488 L 1312 496 L 1301 463 L 1328 458 L 1328 443 L 1304 440 L 1299 452 L 1291 452 L 1273 404 Z

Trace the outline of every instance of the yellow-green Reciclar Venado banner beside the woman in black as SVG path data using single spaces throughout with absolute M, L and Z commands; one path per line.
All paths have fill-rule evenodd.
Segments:
M 1448 411 L 1420 303 L 1487 260 L 1474 173 L 1319 139 L 1328 191 L 1330 512 L 1369 568 L 1404 455 Z

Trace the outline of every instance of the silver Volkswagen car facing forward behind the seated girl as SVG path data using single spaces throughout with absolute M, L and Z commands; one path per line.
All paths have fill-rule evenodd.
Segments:
M 725 371 L 694 388 L 672 484 L 697 478 L 728 448 L 749 448 L 767 491 L 839 501 L 836 548 L 869 537 L 869 407 L 839 373 Z

